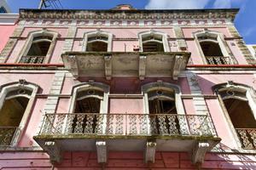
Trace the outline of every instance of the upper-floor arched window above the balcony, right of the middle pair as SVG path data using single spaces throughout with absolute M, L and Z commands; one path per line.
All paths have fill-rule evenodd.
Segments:
M 160 31 L 145 31 L 138 34 L 140 51 L 170 52 L 167 35 Z

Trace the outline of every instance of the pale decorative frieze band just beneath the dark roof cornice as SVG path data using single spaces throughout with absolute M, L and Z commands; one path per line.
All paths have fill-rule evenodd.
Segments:
M 22 21 L 22 22 L 21 22 Z M 20 20 L 25 26 L 132 26 L 132 27 L 166 27 L 166 26 L 210 26 L 214 20 Z M 228 20 L 215 21 L 213 26 L 226 26 Z

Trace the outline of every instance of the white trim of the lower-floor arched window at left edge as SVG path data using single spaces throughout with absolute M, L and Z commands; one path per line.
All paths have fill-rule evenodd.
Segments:
M 5 84 L 3 86 L 0 87 L 0 90 L 1 90 L 1 93 L 0 93 L 0 110 L 2 109 L 3 107 L 3 104 L 4 104 L 4 101 L 6 99 L 6 95 L 11 92 L 11 91 L 14 91 L 14 90 L 17 90 L 17 89 L 27 89 L 27 90 L 30 90 L 32 92 L 32 94 L 29 96 L 29 95 L 24 95 L 24 94 L 17 94 L 17 95 L 14 95 L 14 96 L 11 96 L 9 97 L 8 99 L 11 99 L 11 98 L 15 98 L 15 97 L 26 97 L 28 100 L 28 103 L 26 105 L 26 110 L 24 111 L 23 113 L 23 116 L 20 120 L 20 125 L 18 127 L 18 129 L 16 130 L 14 136 L 13 136 L 13 139 L 11 141 L 11 144 L 10 146 L 16 146 L 19 141 L 20 141 L 20 137 L 22 136 L 22 133 L 24 133 L 24 128 L 26 127 L 26 123 L 28 121 L 28 117 L 30 116 L 30 113 L 32 112 L 32 106 L 34 105 L 34 101 L 35 101 L 35 98 L 36 98 L 36 94 L 38 93 L 38 85 L 36 84 L 33 84 L 31 82 L 26 82 L 25 83 L 20 83 L 20 82 L 11 82 L 11 83 L 8 83 L 8 84 Z

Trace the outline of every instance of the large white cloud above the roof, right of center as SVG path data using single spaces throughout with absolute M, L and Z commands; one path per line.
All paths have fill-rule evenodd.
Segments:
M 210 0 L 149 0 L 146 9 L 205 8 Z M 225 1 L 225 0 L 222 0 Z

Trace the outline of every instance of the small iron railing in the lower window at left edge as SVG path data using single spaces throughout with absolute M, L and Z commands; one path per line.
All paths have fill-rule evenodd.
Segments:
M 0 127 L 0 146 L 8 146 L 12 143 L 18 127 Z

